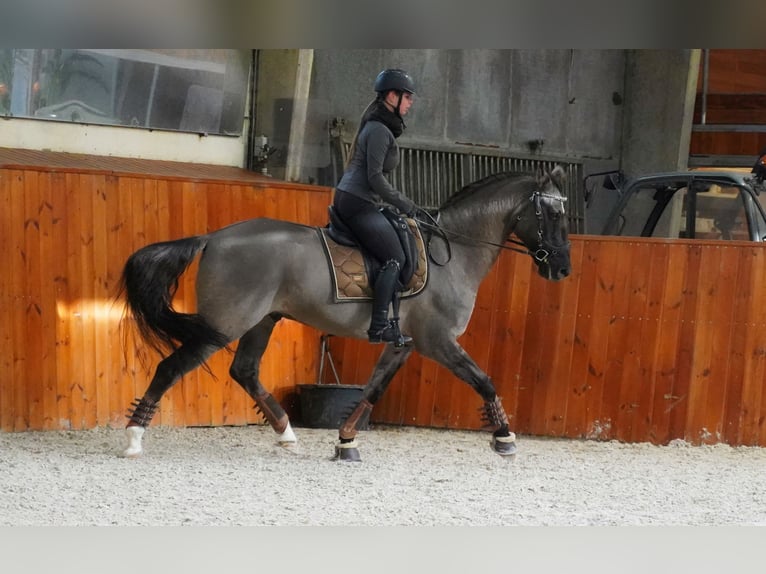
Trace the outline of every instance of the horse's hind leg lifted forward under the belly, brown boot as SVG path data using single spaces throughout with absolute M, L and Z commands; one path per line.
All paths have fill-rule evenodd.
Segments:
M 287 413 L 258 380 L 261 357 L 266 352 L 269 337 L 279 320 L 279 315 L 267 315 L 242 336 L 229 374 L 253 398 L 263 417 L 279 435 L 278 442 L 291 444 L 296 442 L 296 438 Z

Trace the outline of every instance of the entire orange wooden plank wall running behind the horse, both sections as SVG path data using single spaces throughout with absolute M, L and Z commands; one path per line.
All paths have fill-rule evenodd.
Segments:
M 0 429 L 125 424 L 148 373 L 123 347 L 112 305 L 130 253 L 147 243 L 256 216 L 326 222 L 331 190 L 113 172 L 0 169 Z M 539 278 L 503 253 L 461 342 L 493 377 L 519 433 L 766 446 L 766 246 L 572 238 L 573 275 Z M 193 270 L 177 304 L 193 309 Z M 263 365 L 295 414 L 314 382 L 319 333 L 280 323 Z M 331 339 L 341 382 L 363 383 L 379 346 Z M 126 352 L 124 352 L 126 351 Z M 156 363 L 153 356 L 149 368 Z M 166 395 L 154 424 L 262 422 L 212 359 Z M 326 370 L 325 375 L 327 378 Z M 479 427 L 480 400 L 414 354 L 372 420 Z

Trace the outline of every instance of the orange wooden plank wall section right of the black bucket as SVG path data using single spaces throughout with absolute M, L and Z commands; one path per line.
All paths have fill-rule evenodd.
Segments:
M 766 445 L 766 246 L 579 236 L 572 264 L 552 283 L 503 253 L 460 339 L 517 433 Z M 379 353 L 343 339 L 331 351 L 346 384 Z M 413 354 L 371 420 L 478 429 L 480 406 Z

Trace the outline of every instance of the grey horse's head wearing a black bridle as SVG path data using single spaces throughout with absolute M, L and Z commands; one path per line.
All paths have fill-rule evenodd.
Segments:
M 564 211 L 564 170 L 538 170 L 537 187 L 529 204 L 517 216 L 514 233 L 521 239 L 546 279 L 559 281 L 572 271 L 569 261 L 567 218 Z

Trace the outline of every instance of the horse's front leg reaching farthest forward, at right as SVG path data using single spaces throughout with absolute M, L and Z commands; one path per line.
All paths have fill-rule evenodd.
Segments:
M 497 396 L 492 379 L 482 371 L 468 353 L 453 340 L 443 340 L 430 344 L 419 351 L 447 367 L 456 377 L 468 383 L 482 399 L 480 412 L 485 422 L 484 430 L 492 431 L 490 445 L 492 450 L 502 456 L 516 453 L 516 435 L 511 432 L 508 416 Z

